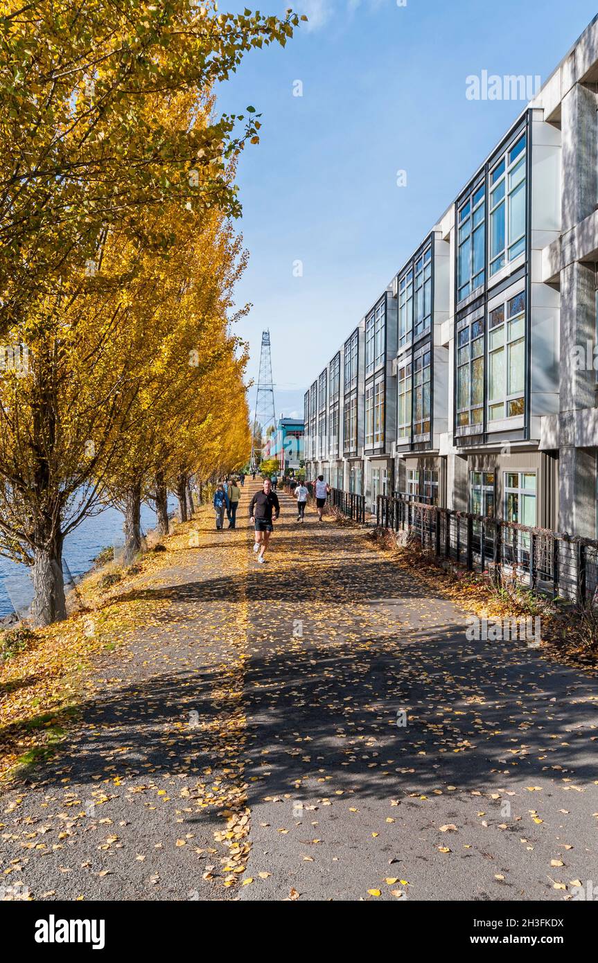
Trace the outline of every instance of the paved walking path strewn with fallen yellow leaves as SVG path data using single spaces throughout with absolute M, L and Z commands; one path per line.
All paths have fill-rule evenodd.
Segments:
M 3 795 L 8 898 L 559 900 L 598 882 L 595 680 L 467 641 L 416 570 L 313 509 L 298 525 L 284 494 L 258 565 L 256 487 L 236 531 L 202 512 L 198 545 L 137 584 L 169 600 L 158 626 L 103 657 L 60 756 Z

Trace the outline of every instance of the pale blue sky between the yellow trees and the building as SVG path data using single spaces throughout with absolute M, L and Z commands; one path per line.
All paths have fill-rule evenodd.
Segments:
M 237 330 L 256 378 L 270 328 L 285 414 L 302 411 L 307 386 L 524 108 L 468 100 L 466 77 L 544 82 L 596 13 L 590 0 L 300 0 L 294 10 L 309 17 L 294 39 L 248 54 L 218 91 L 221 110 L 262 114 L 261 143 L 238 174 L 250 260 L 237 294 L 253 307 Z

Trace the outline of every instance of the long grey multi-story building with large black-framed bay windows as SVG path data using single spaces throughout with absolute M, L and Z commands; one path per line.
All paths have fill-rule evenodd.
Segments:
M 598 18 L 312 385 L 308 474 L 596 537 L 597 112 Z

